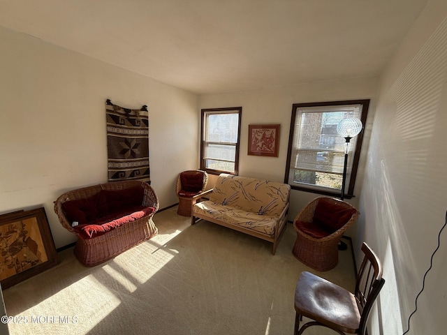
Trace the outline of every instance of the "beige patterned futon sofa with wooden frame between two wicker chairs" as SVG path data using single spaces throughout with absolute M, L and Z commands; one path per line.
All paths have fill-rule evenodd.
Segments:
M 203 218 L 270 241 L 274 255 L 286 229 L 290 190 L 288 184 L 221 174 L 210 200 L 193 205 L 191 224 Z

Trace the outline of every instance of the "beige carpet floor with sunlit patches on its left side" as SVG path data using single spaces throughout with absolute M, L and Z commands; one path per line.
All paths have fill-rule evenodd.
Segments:
M 157 213 L 159 234 L 113 260 L 83 267 L 69 248 L 56 267 L 4 290 L 8 315 L 27 320 L 10 334 L 293 334 L 301 271 L 353 290 L 350 249 L 318 272 L 293 257 L 291 224 L 272 255 L 266 241 L 207 221 L 191 226 L 176 210 Z

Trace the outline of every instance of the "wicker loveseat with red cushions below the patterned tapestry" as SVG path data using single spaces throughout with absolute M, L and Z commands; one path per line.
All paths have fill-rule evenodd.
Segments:
M 159 200 L 143 181 L 115 181 L 68 191 L 54 202 L 60 223 L 78 241 L 75 256 L 94 266 L 154 237 Z

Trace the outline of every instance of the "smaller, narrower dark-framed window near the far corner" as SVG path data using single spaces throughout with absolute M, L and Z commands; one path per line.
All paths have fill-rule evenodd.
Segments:
M 200 169 L 237 174 L 242 107 L 202 110 Z

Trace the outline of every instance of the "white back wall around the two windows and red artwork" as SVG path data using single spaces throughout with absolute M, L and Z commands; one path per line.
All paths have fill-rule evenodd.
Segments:
M 374 119 L 374 98 L 377 83 L 378 78 L 366 77 L 351 80 L 314 82 L 293 87 L 210 94 L 199 96 L 199 106 L 200 108 L 242 106 L 239 174 L 241 176 L 284 182 L 293 103 L 371 99 L 367 124 L 365 125 L 365 136 L 363 137 L 362 156 L 360 157 L 358 177 L 354 190 L 354 194 L 358 196 L 360 195 L 360 186 L 362 185 L 363 167 L 365 165 L 372 119 Z M 247 155 L 249 124 L 281 124 L 279 157 Z M 210 178 L 210 181 L 212 181 L 212 178 Z M 293 220 L 298 211 L 316 196 L 318 195 L 315 193 L 292 191 L 289 220 Z M 356 205 L 358 198 L 346 201 Z M 355 229 L 353 227 L 353 230 Z M 351 233 L 348 234 L 350 235 Z

